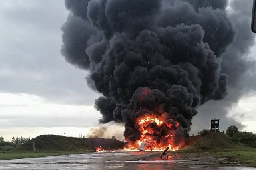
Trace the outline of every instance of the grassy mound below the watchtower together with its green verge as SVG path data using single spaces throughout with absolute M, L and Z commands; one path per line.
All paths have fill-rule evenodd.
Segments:
M 228 135 L 220 132 L 212 132 L 205 137 L 201 137 L 196 144 L 179 150 L 177 153 L 212 155 L 227 158 L 227 164 L 256 167 L 256 148 L 236 143 Z

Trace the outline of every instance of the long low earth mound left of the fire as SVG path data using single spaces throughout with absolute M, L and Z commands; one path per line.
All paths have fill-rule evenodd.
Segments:
M 102 146 L 104 149 L 123 148 L 124 143 L 115 139 L 104 138 L 73 138 L 58 135 L 40 135 L 30 141 L 22 144 L 13 151 L 32 151 L 33 142 L 36 150 L 46 151 L 79 151 L 95 150 L 96 147 Z

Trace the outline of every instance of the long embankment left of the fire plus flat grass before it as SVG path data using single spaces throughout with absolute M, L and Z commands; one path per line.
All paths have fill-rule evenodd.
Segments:
M 33 152 L 33 143 L 36 152 Z M 115 139 L 40 135 L 16 148 L 0 146 L 0 160 L 90 153 L 99 146 L 104 149 L 119 149 L 124 144 Z

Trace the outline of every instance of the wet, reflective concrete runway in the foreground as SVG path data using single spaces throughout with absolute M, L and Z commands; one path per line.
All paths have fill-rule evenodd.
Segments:
M 158 152 L 104 152 L 1 160 L 0 170 L 256 170 L 256 168 L 191 165 L 185 160 L 138 160 Z

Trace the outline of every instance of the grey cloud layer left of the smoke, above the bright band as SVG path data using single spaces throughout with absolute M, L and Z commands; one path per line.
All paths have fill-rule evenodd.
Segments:
M 67 17 L 63 1 L 20 3 L 32 5 L 12 4 L 12 8 L 0 10 L 0 92 L 28 93 L 61 104 L 93 105 L 99 95 L 87 87 L 87 72 L 67 64 L 60 55 L 60 27 Z

